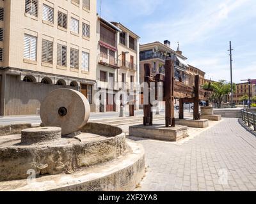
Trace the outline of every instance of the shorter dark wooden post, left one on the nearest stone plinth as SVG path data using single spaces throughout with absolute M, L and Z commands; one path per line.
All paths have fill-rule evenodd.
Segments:
M 143 125 L 144 126 L 152 126 L 153 125 L 153 113 L 152 113 L 152 105 L 150 104 L 150 83 L 149 83 L 149 77 L 150 77 L 150 64 L 144 64 L 144 73 L 145 78 L 144 81 L 148 84 L 148 87 L 144 87 L 144 96 L 147 96 L 148 94 L 148 104 L 144 104 L 143 106 Z M 145 91 L 147 93 L 145 94 Z M 144 97 L 145 98 L 145 97 Z M 145 102 L 145 101 L 144 101 Z

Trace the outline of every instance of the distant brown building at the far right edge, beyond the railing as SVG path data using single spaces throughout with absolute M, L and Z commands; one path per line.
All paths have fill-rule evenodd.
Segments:
M 251 91 L 251 97 L 256 96 L 256 85 L 251 84 L 250 86 Z M 241 83 L 241 84 L 236 84 L 236 93 L 234 93 L 233 96 L 233 101 L 237 105 L 241 103 L 240 98 L 243 96 L 249 96 L 249 84 L 248 83 Z M 243 102 L 242 102 L 243 103 Z

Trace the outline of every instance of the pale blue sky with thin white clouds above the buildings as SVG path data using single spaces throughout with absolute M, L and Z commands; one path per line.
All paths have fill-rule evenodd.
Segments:
M 99 12 L 100 0 L 97 0 Z M 256 78 L 256 0 L 102 0 L 101 16 L 121 22 L 140 43 L 170 40 L 206 78 L 234 82 Z

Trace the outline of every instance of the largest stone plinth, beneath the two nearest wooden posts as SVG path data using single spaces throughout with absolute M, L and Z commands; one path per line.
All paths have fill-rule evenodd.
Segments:
M 129 136 L 177 142 L 188 137 L 188 127 L 175 126 L 175 128 L 166 128 L 162 124 L 130 126 Z

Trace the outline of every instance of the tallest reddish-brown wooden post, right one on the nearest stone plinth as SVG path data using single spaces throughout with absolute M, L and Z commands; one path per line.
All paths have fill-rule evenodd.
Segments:
M 174 63 L 165 61 L 165 126 L 175 127 L 174 117 Z

